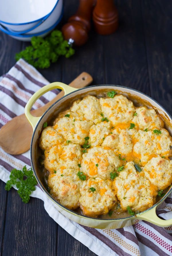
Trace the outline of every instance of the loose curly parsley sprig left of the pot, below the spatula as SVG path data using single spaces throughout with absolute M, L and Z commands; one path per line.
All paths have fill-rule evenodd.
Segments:
M 9 191 L 13 185 L 16 185 L 18 189 L 17 193 L 22 201 L 28 203 L 30 194 L 35 190 L 35 186 L 37 185 L 32 168 L 27 170 L 25 165 L 22 170 L 12 169 L 9 180 L 5 185 L 5 190 Z

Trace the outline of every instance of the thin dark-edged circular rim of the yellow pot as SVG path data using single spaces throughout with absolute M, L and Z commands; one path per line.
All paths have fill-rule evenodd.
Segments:
M 99 84 L 99 85 L 93 85 L 93 86 L 87 86 L 87 87 L 83 87 L 83 88 L 80 88 L 78 90 L 75 90 L 74 92 L 79 92 L 81 90 L 84 90 L 84 89 L 87 89 L 87 88 L 93 88 L 93 87 L 97 87 L 99 88 L 100 86 L 114 86 L 114 87 L 119 87 L 119 88 L 125 88 L 125 89 L 129 89 L 129 90 L 132 90 L 132 91 L 135 91 L 135 92 L 139 92 L 141 94 L 143 94 L 144 96 L 150 98 L 151 100 L 153 100 L 154 102 L 156 102 L 164 111 L 165 113 L 167 113 L 170 117 L 170 119 L 172 119 L 171 115 L 165 110 L 165 108 L 163 106 L 161 106 L 156 100 L 154 100 L 153 98 L 151 98 L 150 96 L 144 94 L 143 92 L 140 92 L 136 89 L 132 89 L 132 88 L 129 88 L 129 87 L 126 87 L 126 86 L 120 86 L 120 85 L 114 85 L 114 84 Z M 40 185 L 40 187 L 42 188 L 42 190 L 44 191 L 44 193 L 52 200 L 54 201 L 54 203 L 58 204 L 61 208 L 67 210 L 67 212 L 71 212 L 71 214 L 74 214 L 74 215 L 77 215 L 77 216 L 81 216 L 82 218 L 87 218 L 87 219 L 93 219 L 93 220 L 101 220 L 101 221 L 114 221 L 114 220 L 126 220 L 126 219 L 130 219 L 130 218 L 134 218 L 134 217 L 137 217 L 151 209 L 153 209 L 154 207 L 156 207 L 157 205 L 159 205 L 161 202 L 163 202 L 165 200 L 165 198 L 171 193 L 172 191 L 172 186 L 171 188 L 169 189 L 169 191 L 167 191 L 167 193 L 157 202 L 155 203 L 153 206 L 151 206 L 150 208 L 148 208 L 147 210 L 143 211 L 143 212 L 140 212 L 138 214 L 136 214 L 135 216 L 128 216 L 128 217 L 125 217 L 125 218 L 119 218 L 119 219 L 102 219 L 102 218 L 93 218 L 93 217 L 89 217 L 89 216 L 85 216 L 85 215 L 82 215 L 82 214 L 79 214 L 77 212 L 74 212 L 73 210 L 70 210 L 69 208 L 65 207 L 64 205 L 62 205 L 61 203 L 59 203 L 58 201 L 56 201 L 49 193 L 48 191 L 46 191 L 46 189 L 42 186 L 39 178 L 38 178 L 38 175 L 36 174 L 36 171 L 34 169 L 34 164 L 33 164 L 33 158 L 32 158 L 32 146 L 33 146 L 33 138 L 34 138 L 34 135 L 35 135 L 35 132 L 36 132 L 36 129 L 38 128 L 38 125 L 40 123 L 40 121 L 42 120 L 42 118 L 46 115 L 46 113 L 50 110 L 50 108 L 52 108 L 57 102 L 59 102 L 60 100 L 62 100 L 63 98 L 65 98 L 66 96 L 70 95 L 70 94 L 73 94 L 74 92 L 70 92 L 69 94 L 66 94 L 64 95 L 62 98 L 60 98 L 59 100 L 57 100 L 56 102 L 54 102 L 45 112 L 44 114 L 41 116 L 40 120 L 38 121 L 38 123 L 36 124 L 36 127 L 34 128 L 34 131 L 33 131 L 33 134 L 32 134 L 32 139 L 31 139 L 31 144 L 30 144 L 30 160 L 31 160 L 31 165 L 32 165 L 32 169 L 33 169 L 33 172 L 34 172 L 34 175 Z

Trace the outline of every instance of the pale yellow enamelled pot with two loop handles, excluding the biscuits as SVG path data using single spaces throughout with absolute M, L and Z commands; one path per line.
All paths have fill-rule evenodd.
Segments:
M 53 90 L 53 89 L 61 89 L 64 91 L 64 97 L 56 101 L 52 106 L 50 106 L 46 112 L 41 117 L 33 117 L 30 113 L 30 110 L 33 106 L 33 104 L 36 102 L 36 100 L 42 96 L 44 93 Z M 165 200 L 165 198 L 171 193 L 172 187 L 167 191 L 165 196 L 159 200 L 155 205 L 150 207 L 144 212 L 141 212 L 139 214 L 136 214 L 136 216 L 129 216 L 126 218 L 119 218 L 119 219 L 103 219 L 103 218 L 91 218 L 87 216 L 83 216 L 81 214 L 78 214 L 72 210 L 69 210 L 68 208 L 61 205 L 58 201 L 56 201 L 45 189 L 44 185 L 42 184 L 40 178 L 39 178 L 39 172 L 36 168 L 36 145 L 38 138 L 40 136 L 40 133 L 42 131 L 43 124 L 47 121 L 47 119 L 53 115 L 55 111 L 58 111 L 58 109 L 61 106 L 65 105 L 65 102 L 67 101 L 72 102 L 75 98 L 80 98 L 82 95 L 85 94 L 92 94 L 96 96 L 100 91 L 106 91 L 106 90 L 116 90 L 117 92 L 122 93 L 123 95 L 126 95 L 129 99 L 133 100 L 134 103 L 141 102 L 144 106 L 153 107 L 156 111 L 158 111 L 159 115 L 163 118 L 165 125 L 169 131 L 169 133 L 172 135 L 172 117 L 167 113 L 167 111 L 160 106 L 155 100 L 152 98 L 146 96 L 145 94 L 130 89 L 123 86 L 115 86 L 115 85 L 100 85 L 100 86 L 89 86 L 86 88 L 81 88 L 77 90 L 76 88 L 70 87 L 66 84 L 60 83 L 60 82 L 54 82 L 52 84 L 46 85 L 42 87 L 40 90 L 38 90 L 28 101 L 25 107 L 25 115 L 30 122 L 30 124 L 33 127 L 33 135 L 32 135 L 32 141 L 30 146 L 30 158 L 31 158 L 31 164 L 32 169 L 34 171 L 34 175 L 38 181 L 38 184 L 44 191 L 44 193 L 49 197 L 50 200 L 52 200 L 59 212 L 61 212 L 63 215 L 68 217 L 69 219 L 88 226 L 92 228 L 122 228 L 124 226 L 130 226 L 132 224 L 135 224 L 138 222 L 138 220 L 146 220 L 148 222 L 151 222 L 155 225 L 161 226 L 161 227 L 167 227 L 172 225 L 172 219 L 170 220 L 162 220 L 160 219 L 156 214 L 156 208 Z

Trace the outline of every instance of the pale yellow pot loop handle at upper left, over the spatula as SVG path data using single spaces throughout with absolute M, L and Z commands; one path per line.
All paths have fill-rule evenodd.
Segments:
M 29 123 L 32 125 L 33 130 L 36 127 L 36 124 L 38 123 L 38 121 L 40 120 L 41 117 L 34 117 L 31 115 L 30 110 L 33 106 L 33 104 L 36 102 L 36 100 L 38 100 L 38 98 L 40 98 L 40 96 L 42 96 L 44 93 L 53 90 L 53 89 L 61 89 L 64 91 L 64 95 L 67 95 L 71 92 L 74 92 L 78 89 L 73 88 L 67 84 L 63 84 L 60 82 L 54 82 L 51 84 L 48 84 L 42 88 L 40 88 L 37 92 L 35 92 L 32 97 L 28 100 L 28 103 L 25 106 L 25 110 L 24 113 L 26 115 L 26 118 L 28 119 Z

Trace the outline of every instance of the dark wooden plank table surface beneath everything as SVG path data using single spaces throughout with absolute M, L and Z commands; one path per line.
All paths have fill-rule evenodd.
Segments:
M 70 59 L 40 72 L 50 81 L 71 82 L 82 71 L 93 84 L 117 84 L 144 92 L 172 113 L 172 4 L 163 0 L 115 0 L 118 31 L 100 36 L 91 31 L 87 44 Z M 77 0 L 66 0 L 67 21 Z M 60 24 L 60 26 L 61 26 Z M 60 26 L 58 26 L 60 28 Z M 15 64 L 15 53 L 28 43 L 0 33 L 0 75 Z M 52 220 L 41 200 L 22 203 L 14 189 L 0 181 L 1 255 L 95 255 Z

